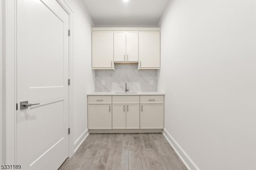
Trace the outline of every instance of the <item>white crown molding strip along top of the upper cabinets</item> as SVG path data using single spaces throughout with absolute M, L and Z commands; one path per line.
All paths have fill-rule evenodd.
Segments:
M 156 27 L 92 27 L 92 31 L 143 31 L 154 32 L 161 31 L 161 28 Z

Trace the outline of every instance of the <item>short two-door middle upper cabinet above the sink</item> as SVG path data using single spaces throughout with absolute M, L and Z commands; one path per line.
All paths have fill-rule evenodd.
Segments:
M 138 62 L 138 32 L 114 32 L 114 61 Z

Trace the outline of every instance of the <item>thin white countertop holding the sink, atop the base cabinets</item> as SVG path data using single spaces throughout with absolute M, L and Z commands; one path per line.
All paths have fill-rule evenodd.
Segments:
M 88 96 L 123 96 L 123 95 L 165 95 L 165 93 L 159 92 L 159 91 L 137 91 L 136 93 L 116 93 L 113 91 L 110 92 L 92 92 L 87 93 Z

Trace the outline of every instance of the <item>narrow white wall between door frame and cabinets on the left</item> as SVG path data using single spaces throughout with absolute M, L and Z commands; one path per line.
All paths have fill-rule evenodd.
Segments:
M 74 148 L 82 141 L 87 129 L 87 92 L 94 91 L 91 69 L 91 27 L 94 25 L 82 0 L 65 0 L 73 11 L 73 114 Z

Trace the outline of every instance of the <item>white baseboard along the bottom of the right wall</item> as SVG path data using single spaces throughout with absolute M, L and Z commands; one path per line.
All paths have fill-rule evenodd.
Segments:
M 164 137 L 172 148 L 175 150 L 175 152 L 178 154 L 182 162 L 185 164 L 185 166 L 188 168 L 188 170 L 200 170 L 198 166 L 192 161 L 192 159 L 186 154 L 186 152 L 180 147 L 180 145 L 174 140 L 174 138 L 170 135 L 170 133 L 164 128 L 163 132 Z

